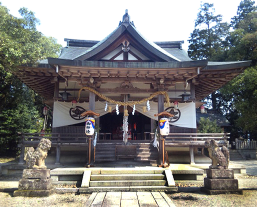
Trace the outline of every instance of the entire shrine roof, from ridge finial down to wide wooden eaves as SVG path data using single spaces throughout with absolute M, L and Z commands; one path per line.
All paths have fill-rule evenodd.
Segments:
M 150 84 L 163 79 L 167 87 L 192 81 L 196 100 L 200 100 L 243 72 L 251 63 L 192 60 L 182 49 L 184 41 L 149 41 L 135 28 L 127 12 L 119 26 L 101 41 L 65 41 L 67 46 L 59 58 L 48 58 L 38 67 L 20 66 L 15 72 L 22 82 L 47 100 L 52 100 L 57 79 L 86 84 L 90 78 L 99 83 L 126 79 Z M 122 59 L 125 51 L 131 52 L 131 59 L 129 56 Z

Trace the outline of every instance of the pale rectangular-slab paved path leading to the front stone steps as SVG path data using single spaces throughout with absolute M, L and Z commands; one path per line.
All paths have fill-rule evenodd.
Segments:
M 176 207 L 165 192 L 93 192 L 88 207 Z

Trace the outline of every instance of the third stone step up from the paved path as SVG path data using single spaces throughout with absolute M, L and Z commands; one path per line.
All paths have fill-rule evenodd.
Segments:
M 91 174 L 91 180 L 164 180 L 164 174 Z

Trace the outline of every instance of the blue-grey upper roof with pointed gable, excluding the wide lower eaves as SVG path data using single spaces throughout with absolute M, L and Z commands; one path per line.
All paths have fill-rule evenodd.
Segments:
M 124 41 L 127 41 L 129 45 L 137 50 L 137 52 L 141 52 L 142 55 L 148 57 L 146 59 L 150 59 L 150 61 L 171 62 L 191 60 L 186 53 L 180 52 L 179 54 L 179 52 L 177 52 L 177 57 L 173 55 L 174 51 L 169 52 L 162 48 L 168 47 L 167 49 L 169 50 L 174 50 L 174 48 L 176 48 L 176 50 L 182 50 L 181 43 L 183 43 L 183 41 L 154 43 L 145 38 L 136 29 L 134 23 L 130 21 L 127 12 L 124 16 L 123 21 L 120 22 L 119 26 L 101 41 L 65 39 L 67 41 L 67 47 L 64 48 L 59 58 L 98 61 L 120 45 L 124 44 Z M 93 46 L 88 48 L 89 45 Z M 179 48 L 177 45 L 179 45 Z M 128 52 L 130 53 L 130 51 Z M 137 55 L 134 56 L 137 57 Z M 184 58 L 184 56 L 187 57 Z M 138 59 L 138 61 L 140 60 L 142 59 Z

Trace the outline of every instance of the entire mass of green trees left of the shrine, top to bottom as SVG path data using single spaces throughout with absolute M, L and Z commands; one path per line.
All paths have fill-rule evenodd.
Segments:
M 42 98 L 12 72 L 19 65 L 57 57 L 61 45 L 36 30 L 39 20 L 32 11 L 19 9 L 21 18 L 0 4 L 0 154 L 16 153 L 17 132 L 39 132 Z

